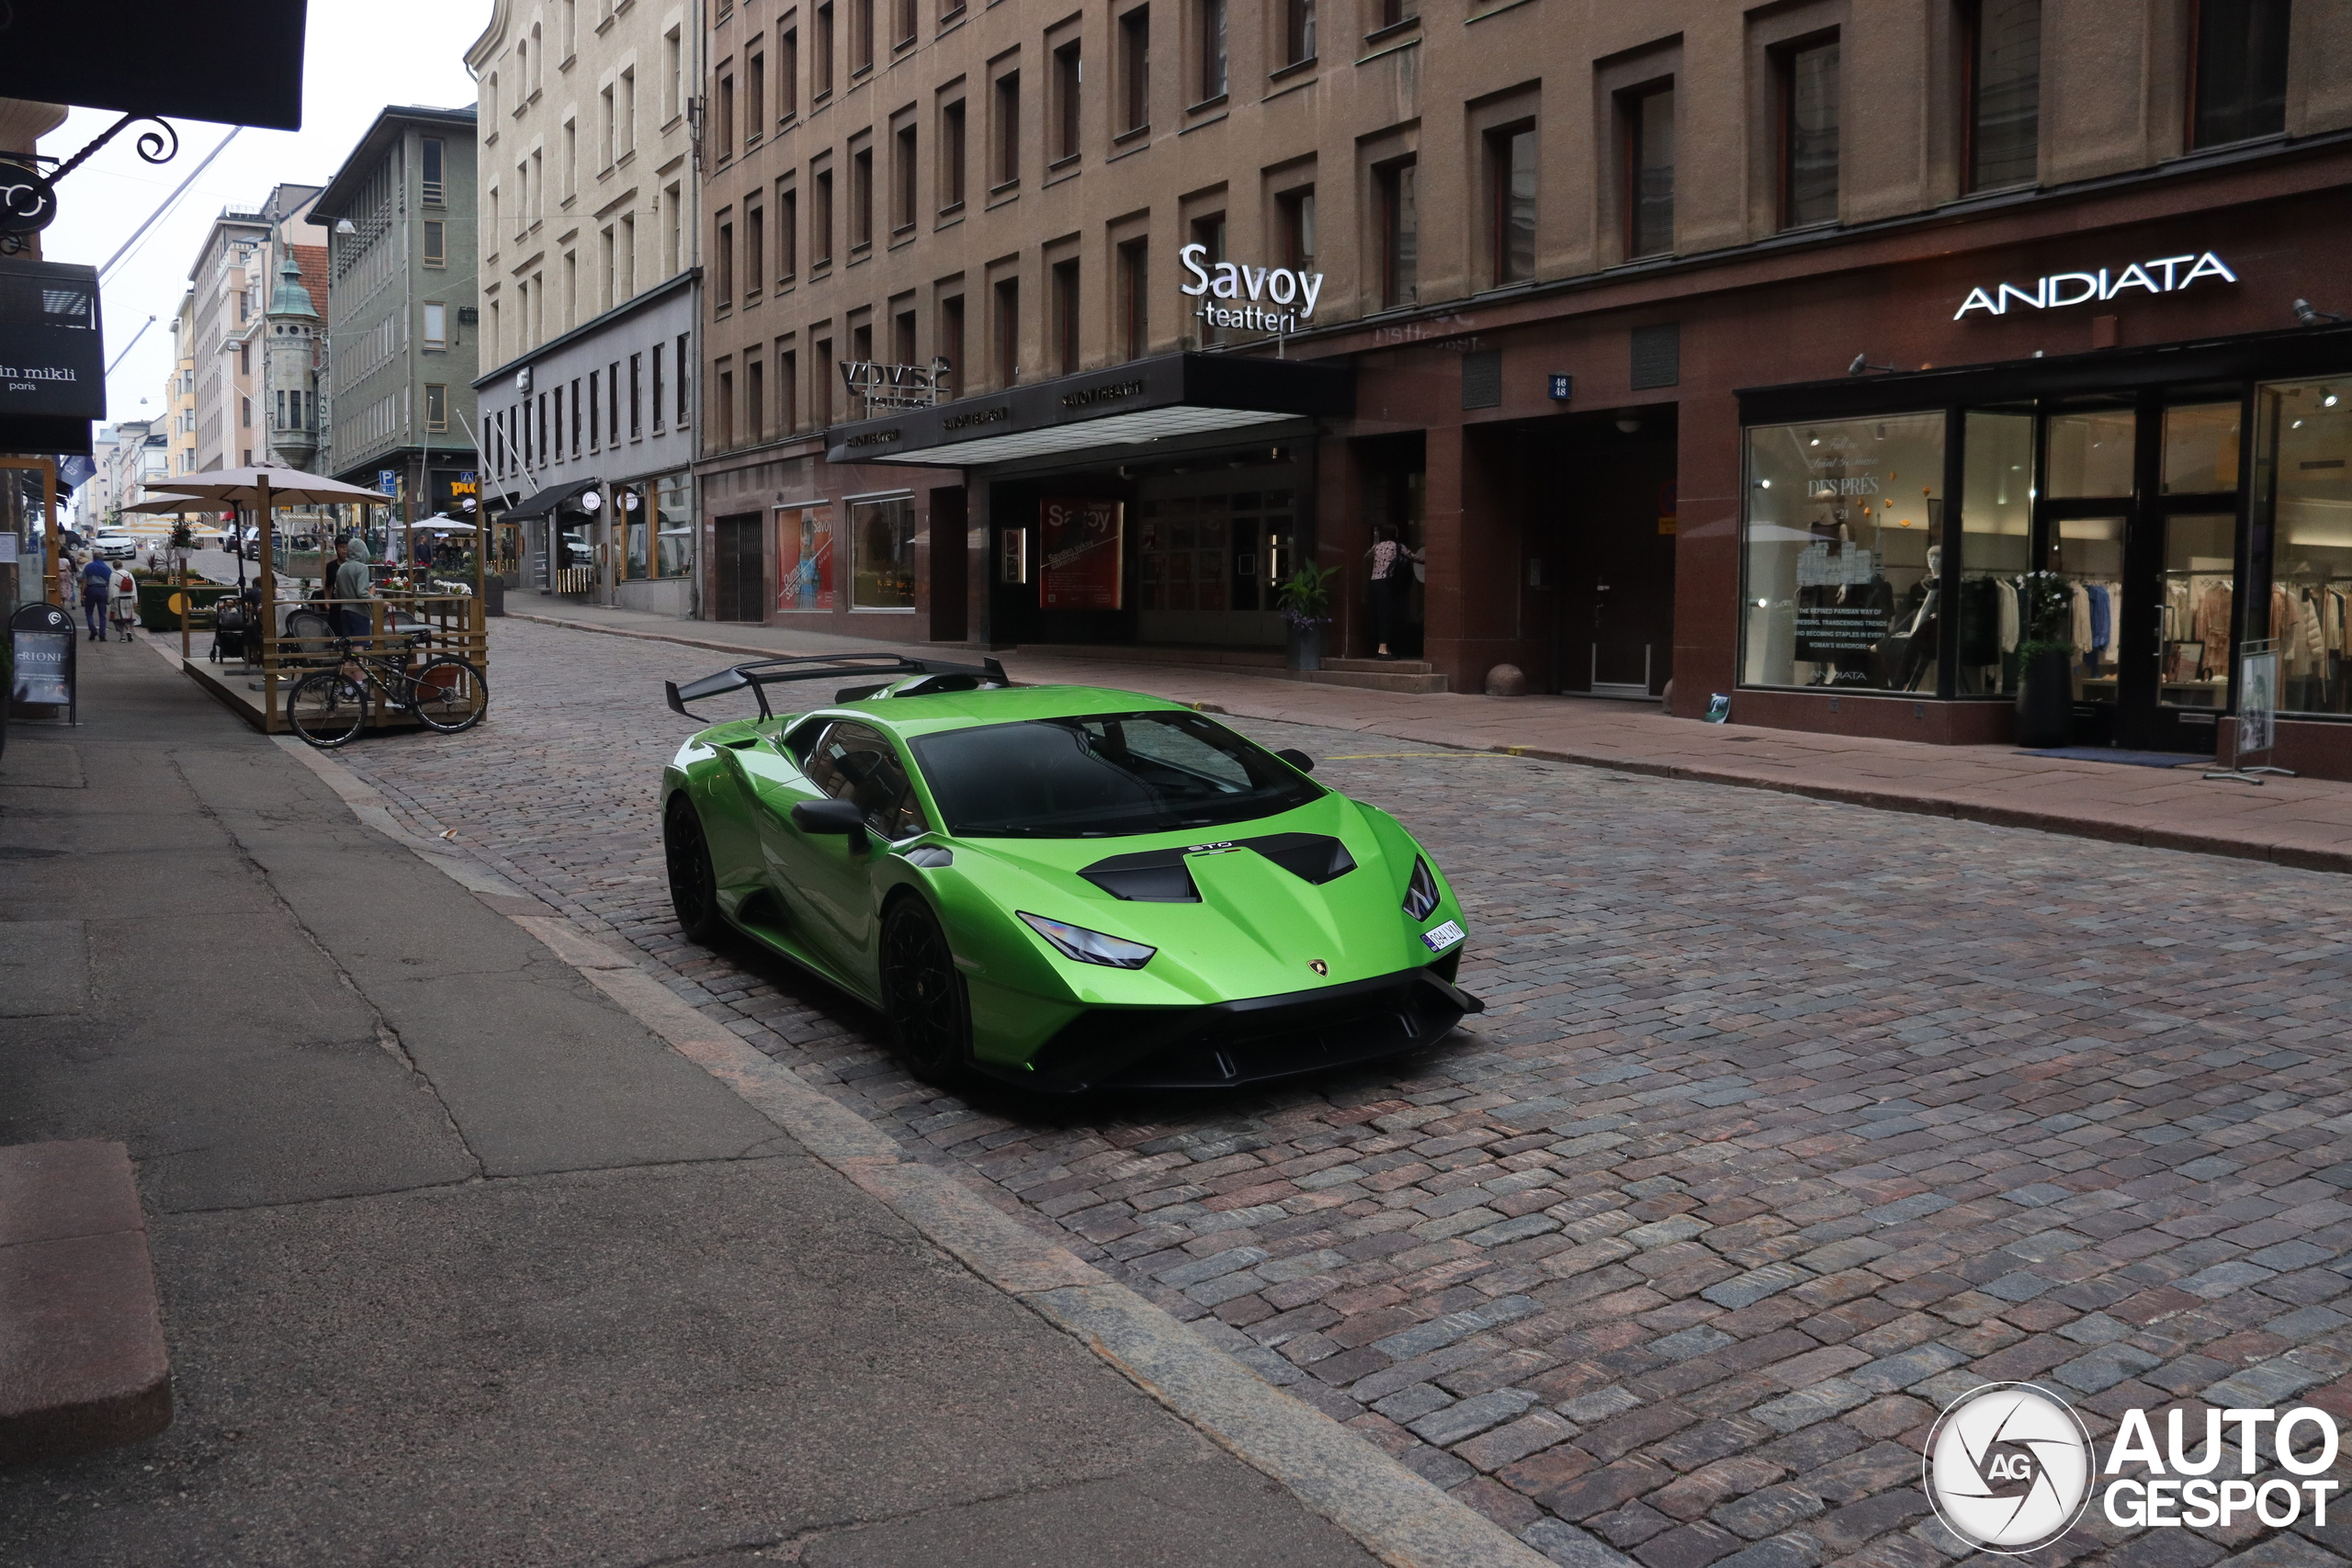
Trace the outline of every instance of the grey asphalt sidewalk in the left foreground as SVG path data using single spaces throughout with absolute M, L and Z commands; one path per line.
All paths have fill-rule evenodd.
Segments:
M 1329 1467 L 1164 1408 L 1218 1352 L 741 1041 L 656 1034 L 691 1011 L 555 910 L 146 646 L 82 651 L 82 715 L 0 757 L 0 973 L 40 980 L 0 994 L 0 1143 L 129 1145 L 176 1420 L 0 1469 L 0 1563 L 1374 1561 L 1301 1502 Z

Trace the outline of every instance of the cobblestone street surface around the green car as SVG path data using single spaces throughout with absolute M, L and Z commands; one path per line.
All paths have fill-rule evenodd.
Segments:
M 680 940 L 687 646 L 492 623 L 492 715 L 341 759 L 706 1016 L 1583 1568 L 1917 1568 L 1936 1410 L 2044 1380 L 2352 1418 L 2352 882 L 1235 722 L 1395 811 L 1489 1011 L 1237 1095 L 941 1098 L 861 1006 Z M 2161 1432 L 2161 1418 L 2157 1418 Z M 2326 1568 L 2296 1530 L 2044 1554 Z

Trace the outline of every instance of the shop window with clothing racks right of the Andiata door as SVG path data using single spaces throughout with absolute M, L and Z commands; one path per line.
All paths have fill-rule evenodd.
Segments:
M 2352 376 L 2258 388 L 2256 524 L 2270 524 L 2281 712 L 2352 712 Z M 2253 625 L 2249 637 L 2258 637 Z

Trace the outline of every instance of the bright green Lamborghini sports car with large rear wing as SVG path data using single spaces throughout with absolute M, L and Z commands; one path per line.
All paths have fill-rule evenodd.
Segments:
M 875 679 L 875 677 L 887 679 Z M 858 677 L 830 708 L 769 689 Z M 661 778 L 670 900 L 880 1009 L 910 1070 L 1216 1088 L 1437 1041 L 1463 914 L 1385 811 L 1181 703 L 1004 670 L 769 658 Z M 788 703 L 786 703 L 788 708 Z

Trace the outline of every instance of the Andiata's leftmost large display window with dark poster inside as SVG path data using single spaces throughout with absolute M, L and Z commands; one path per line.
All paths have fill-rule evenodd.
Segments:
M 1748 430 L 1752 686 L 1936 691 L 1945 416 Z

